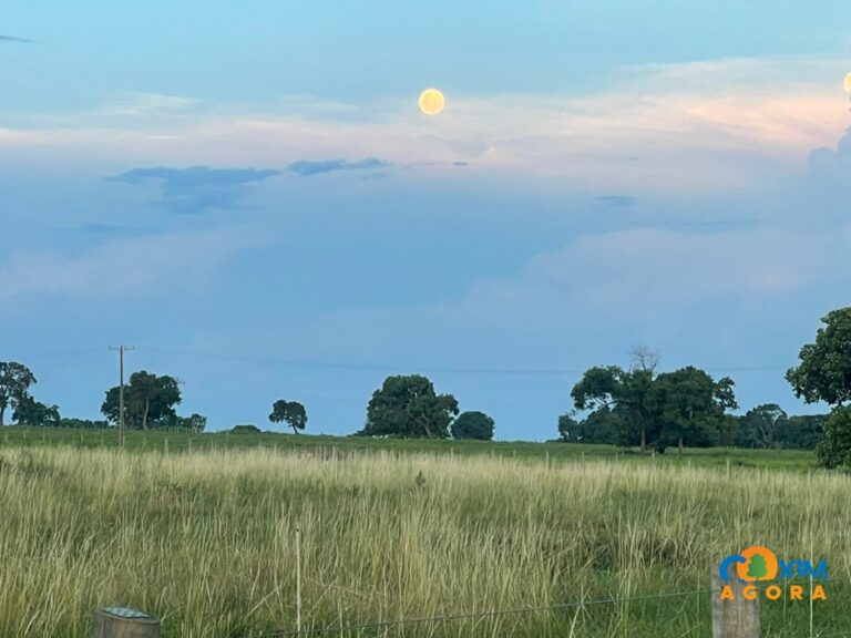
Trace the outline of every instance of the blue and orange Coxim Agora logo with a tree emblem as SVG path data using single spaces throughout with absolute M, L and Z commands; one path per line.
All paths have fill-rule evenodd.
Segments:
M 762 591 L 769 600 L 779 600 L 786 597 L 789 600 L 803 600 L 804 586 L 787 586 L 786 580 L 791 578 L 807 578 L 810 585 L 807 586 L 807 598 L 812 600 L 827 600 L 827 594 L 821 583 L 814 584 L 814 580 L 822 583 L 828 579 L 828 562 L 819 560 L 816 565 L 808 559 L 778 558 L 777 554 L 768 547 L 753 545 L 739 554 L 731 554 L 721 560 L 718 567 L 718 575 L 724 586 L 721 587 L 721 600 L 734 600 L 736 589 L 730 585 L 731 577 L 738 577 L 739 580 L 748 583 L 741 588 L 741 597 L 747 600 L 753 600 L 758 597 L 760 589 L 757 585 L 761 583 L 771 583 L 780 580 L 779 584 L 771 584 Z

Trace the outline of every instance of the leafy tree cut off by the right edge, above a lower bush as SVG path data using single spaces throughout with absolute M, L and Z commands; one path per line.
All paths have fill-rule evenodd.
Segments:
M 800 364 L 786 373 L 794 394 L 807 403 L 841 405 L 851 400 L 851 307 L 821 319 L 816 341 L 799 353 Z

